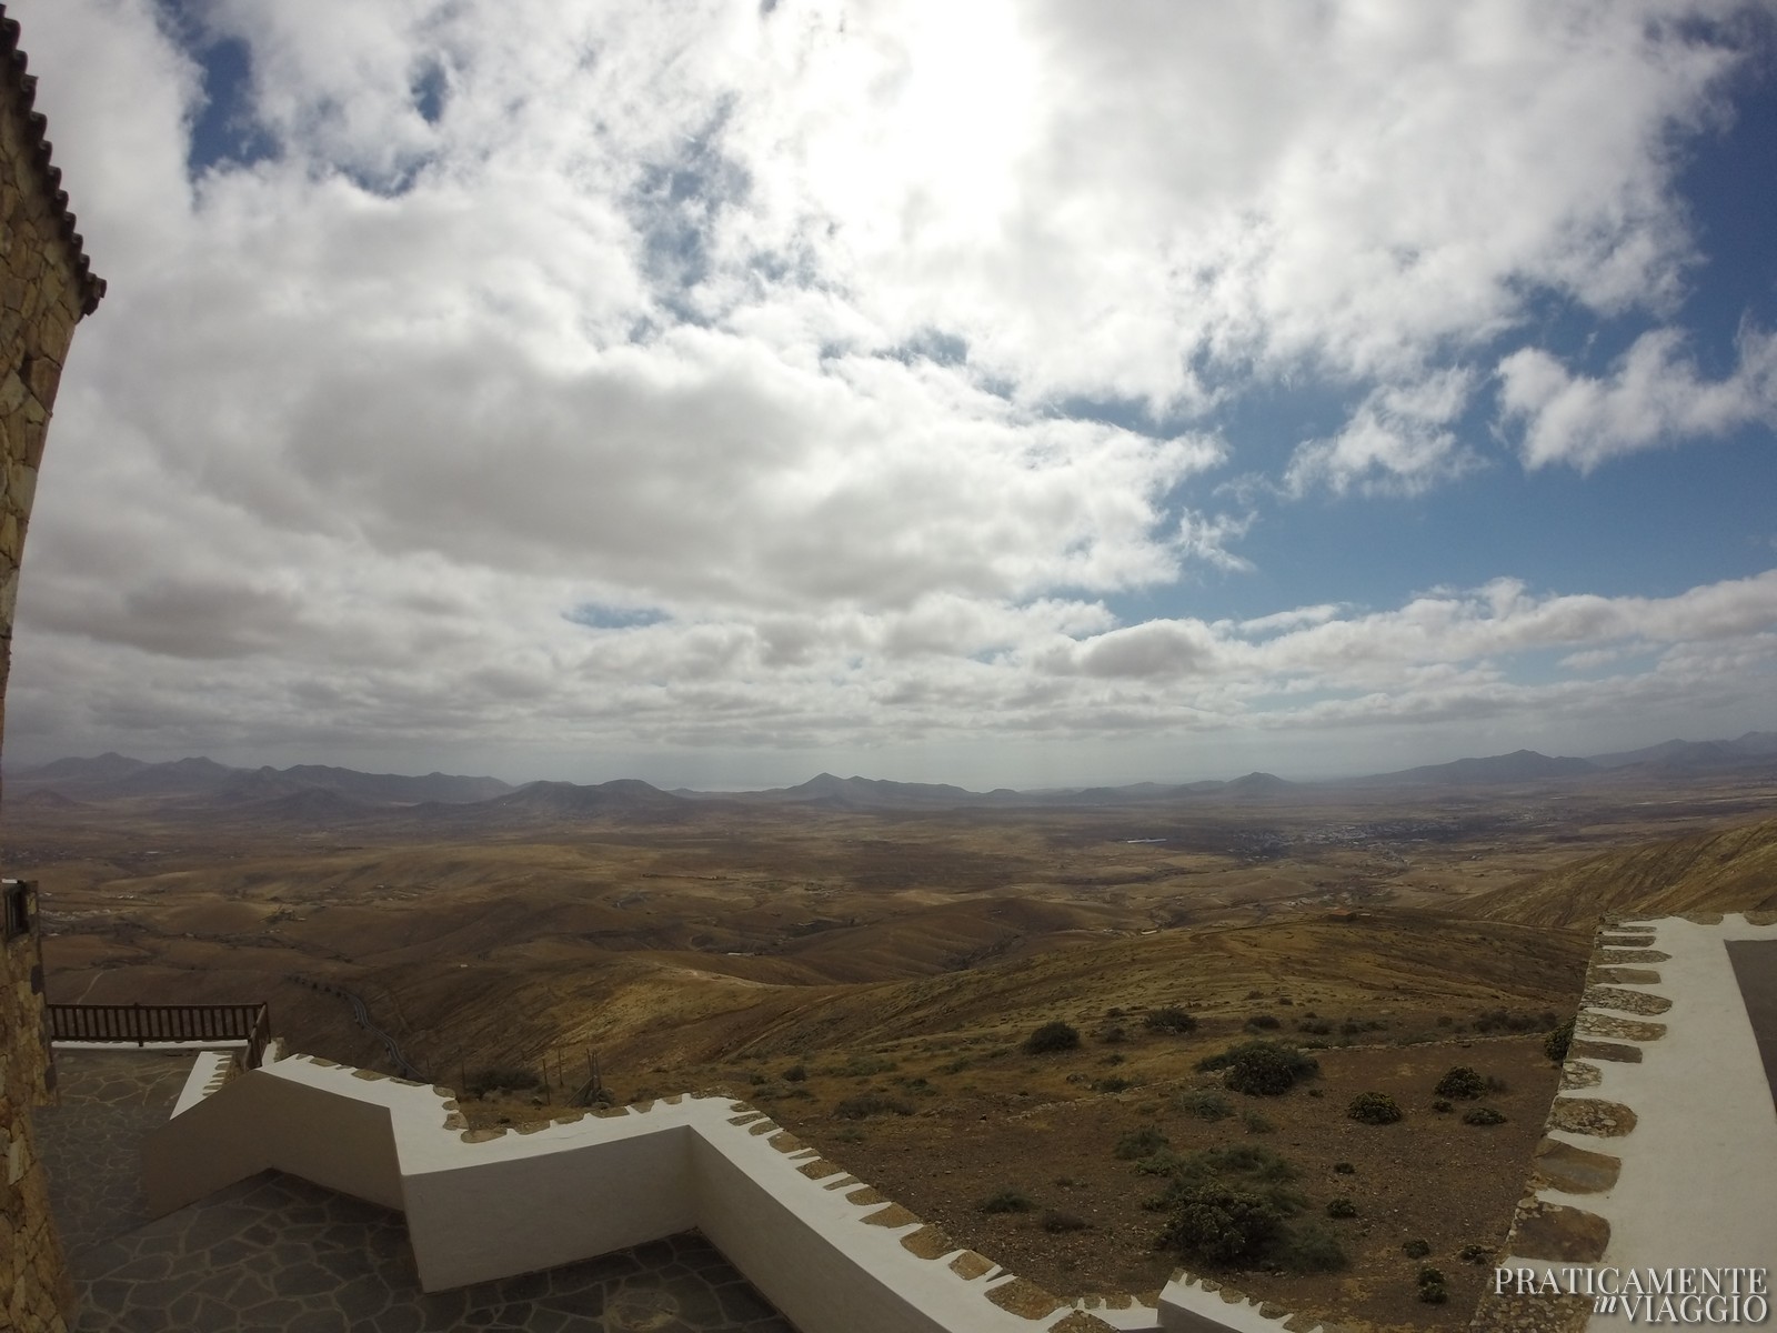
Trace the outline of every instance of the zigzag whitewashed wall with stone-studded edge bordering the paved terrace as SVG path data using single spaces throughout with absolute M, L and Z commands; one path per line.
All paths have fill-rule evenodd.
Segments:
M 379 1107 L 380 1121 L 364 1120 Z M 370 1175 L 398 1180 L 394 1207 L 407 1214 L 428 1290 L 695 1226 L 807 1333 L 1269 1333 L 1288 1317 L 1185 1273 L 1162 1292 L 1057 1299 L 885 1200 L 762 1111 L 716 1091 L 476 1130 L 450 1088 L 318 1056 L 284 1056 L 220 1084 L 211 1066 L 203 1095 L 181 1098 L 149 1139 L 149 1203 L 183 1207 L 227 1184 L 222 1175 L 268 1168 L 304 1175 L 302 1145 L 331 1139 L 347 1121 L 357 1141 L 341 1152 L 371 1162 Z M 295 1145 L 288 1155 L 286 1143 Z M 394 1161 L 377 1164 L 377 1153 Z M 307 1169 L 334 1177 L 316 1184 L 347 1193 L 357 1193 L 363 1178 L 315 1157 Z M 371 1193 L 387 1196 L 387 1185 Z M 586 1200 L 597 1207 L 588 1210 Z M 480 1217 L 473 1235 L 464 1217 Z M 1288 1326 L 1317 1328 L 1299 1319 Z

